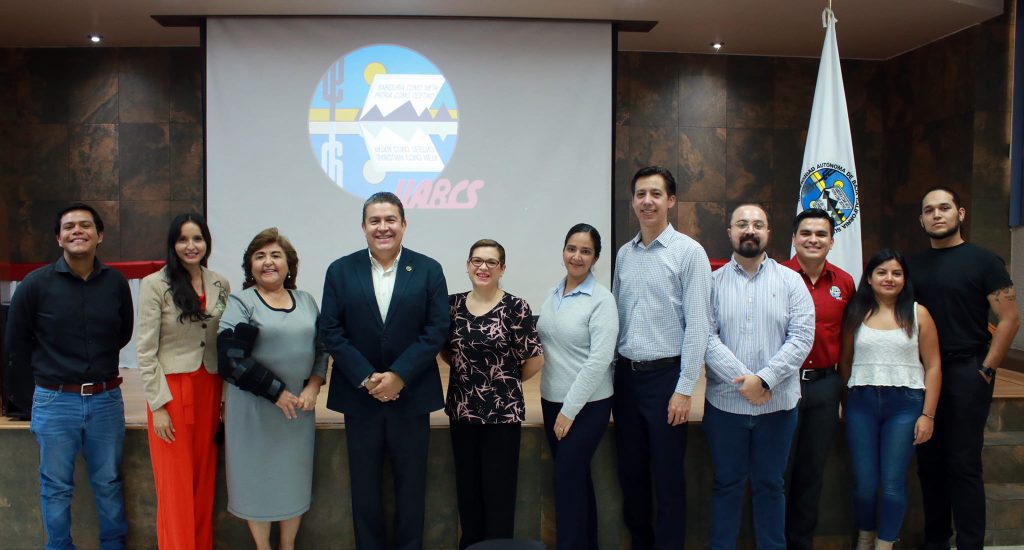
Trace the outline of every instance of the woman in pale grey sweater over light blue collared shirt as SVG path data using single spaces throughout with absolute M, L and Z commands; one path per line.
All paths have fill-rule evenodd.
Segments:
M 548 295 L 537 325 L 544 347 L 541 407 L 554 457 L 559 550 L 597 548 L 597 502 L 590 461 L 608 428 L 618 313 L 591 269 L 601 236 L 578 223 L 562 246 L 565 279 Z

